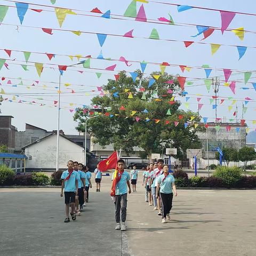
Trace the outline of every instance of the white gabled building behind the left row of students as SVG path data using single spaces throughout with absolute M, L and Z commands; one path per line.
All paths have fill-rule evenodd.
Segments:
M 59 169 L 66 170 L 69 160 L 84 163 L 84 147 L 60 134 Z M 52 133 L 23 147 L 27 171 L 54 171 L 56 169 L 57 133 Z

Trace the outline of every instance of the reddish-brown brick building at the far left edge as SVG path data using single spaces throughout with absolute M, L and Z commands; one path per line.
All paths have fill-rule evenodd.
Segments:
M 11 124 L 12 116 L 0 116 L 0 144 L 6 145 L 9 152 L 15 148 L 16 128 Z

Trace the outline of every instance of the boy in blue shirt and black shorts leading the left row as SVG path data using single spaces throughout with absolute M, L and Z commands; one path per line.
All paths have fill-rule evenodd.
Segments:
M 75 197 L 78 194 L 78 173 L 74 171 L 73 161 L 68 161 L 68 170 L 64 171 L 61 175 L 62 183 L 61 183 L 61 193 L 60 196 L 63 196 L 63 188 L 65 188 L 65 204 L 66 204 L 66 219 L 64 222 L 69 222 L 69 204 L 71 203 L 71 218 L 76 220 L 76 213 L 75 213 Z

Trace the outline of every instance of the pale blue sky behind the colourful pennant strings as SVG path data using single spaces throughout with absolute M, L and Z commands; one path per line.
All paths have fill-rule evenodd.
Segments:
M 33 1 L 27 1 L 28 3 L 33 3 Z M 34 1 L 38 4 L 52 5 L 50 0 L 40 0 Z M 102 12 L 111 10 L 113 14 L 123 15 L 127 6 L 130 4 L 131 0 L 98 0 L 98 1 L 66 1 L 57 0 L 55 5 L 57 7 L 65 7 L 68 9 L 83 10 L 77 13 L 90 14 L 94 7 L 98 7 Z M 194 5 L 203 6 L 212 9 L 229 10 L 236 12 L 245 13 L 256 13 L 256 6 L 253 1 L 246 1 L 246 5 L 241 1 L 167 1 L 163 0 L 161 2 L 175 3 L 183 5 Z M 0 0 L 0 5 L 11 5 L 14 6 L 12 2 L 6 2 Z M 137 10 L 141 3 L 137 3 Z M 53 8 L 49 7 L 39 7 L 32 6 L 34 9 L 44 9 L 53 11 Z M 198 25 L 210 26 L 210 27 L 221 27 L 220 13 L 217 11 L 207 11 L 199 9 L 191 9 L 184 12 L 177 12 L 177 7 L 172 5 L 157 4 L 150 2 L 144 4 L 146 15 L 148 19 L 157 19 L 159 17 L 168 18 L 168 13 L 172 15 L 175 23 L 193 23 Z M 87 12 L 86 12 L 87 11 Z M 230 23 L 229 28 L 236 29 L 239 27 L 244 27 L 245 30 L 255 31 L 256 17 L 250 15 L 236 14 L 236 17 Z M 3 23 L 9 23 L 13 25 L 20 25 L 19 18 L 17 16 L 17 10 L 15 8 L 9 7 L 9 11 Z M 28 10 L 22 25 L 24 26 L 35 26 L 44 28 L 59 28 L 59 23 L 54 12 L 43 11 L 37 13 Z M 104 19 L 104 18 L 94 18 L 86 17 L 85 15 L 67 15 L 66 20 L 63 22 L 61 29 L 68 30 L 81 30 L 90 31 L 93 33 L 104 33 L 104 34 L 119 34 L 123 35 L 127 31 L 134 29 L 133 35 L 138 37 L 149 37 L 151 30 L 156 28 L 160 38 L 175 39 L 180 41 L 200 41 L 202 35 L 196 38 L 191 37 L 197 34 L 195 26 L 171 26 L 162 24 L 153 24 L 149 22 L 138 22 L 132 20 L 115 20 L 115 19 Z M 235 47 L 221 46 L 220 49 L 213 56 L 211 55 L 210 45 L 193 44 L 188 48 L 185 48 L 182 42 L 167 42 L 167 41 L 157 41 L 142 38 L 124 38 L 124 37 L 111 37 L 107 36 L 105 44 L 100 47 L 98 38 L 95 34 L 82 34 L 81 36 L 76 36 L 70 32 L 64 31 L 53 31 L 53 35 L 48 35 L 42 30 L 34 28 L 22 28 L 19 26 L 0 26 L 1 40 L 0 49 L 11 49 L 20 51 L 31 51 L 31 52 L 47 52 L 56 53 L 63 55 L 76 55 L 81 54 L 83 56 L 92 55 L 92 57 L 97 57 L 100 50 L 103 52 L 105 58 L 119 59 L 123 56 L 127 60 L 136 61 L 148 61 L 148 62 L 158 62 L 163 61 L 169 62 L 171 64 L 187 65 L 189 66 L 199 66 L 208 64 L 210 67 L 216 68 L 229 68 L 236 70 L 252 71 L 253 63 L 256 56 L 256 49 L 247 49 L 244 57 L 238 61 L 238 52 Z M 231 45 L 244 45 L 244 46 L 255 46 L 255 34 L 245 33 L 244 40 L 241 41 L 235 34 L 231 31 L 225 31 L 221 35 L 220 30 L 215 30 L 214 33 L 203 42 L 205 43 L 216 43 L 216 44 L 231 44 Z M 0 58 L 9 59 L 7 54 L 0 50 Z M 22 63 L 24 61 L 22 52 L 12 52 L 11 59 L 16 59 L 15 63 Z M 51 61 L 42 54 L 31 53 L 29 61 L 42 62 L 42 63 L 54 63 L 57 65 L 71 65 L 77 62 L 74 58 L 73 61 L 67 56 L 56 56 Z M 56 84 L 50 84 L 45 82 L 55 82 L 58 83 L 59 70 L 45 68 L 41 77 L 38 77 L 35 67 L 28 67 L 29 71 L 24 71 L 20 65 L 12 65 L 10 61 L 6 61 L 9 64 L 9 70 L 4 66 L 0 70 L 0 77 L 12 77 L 18 78 L 22 77 L 23 84 L 31 85 L 33 81 L 39 81 L 38 85 L 30 86 L 27 89 L 26 86 L 18 85 L 17 87 L 8 86 L 6 83 L 9 79 L 5 81 L 0 81 L 2 87 L 6 93 L 7 98 L 12 98 L 8 93 L 22 94 L 22 93 L 38 93 L 38 95 L 30 96 L 26 98 L 25 96 L 20 96 L 17 100 L 28 100 L 46 103 L 46 105 L 52 107 L 39 107 L 27 104 L 20 104 L 14 102 L 3 102 L 1 106 L 2 115 L 12 115 L 14 116 L 13 125 L 18 127 L 18 130 L 25 130 L 25 123 L 29 123 L 35 126 L 42 127 L 47 130 L 57 129 L 57 108 L 53 106 L 53 101 L 58 99 L 57 89 L 54 86 Z M 103 68 L 117 64 L 116 70 L 127 70 L 134 71 L 140 68 L 139 63 L 133 63 L 131 67 L 126 67 L 123 62 L 119 61 L 107 61 L 107 60 L 91 60 L 91 67 Z M 25 64 L 25 63 L 22 63 Z M 31 64 L 30 64 L 31 65 Z M 81 67 L 68 68 L 61 78 L 62 83 L 70 84 L 83 84 L 84 86 L 71 85 L 68 89 L 63 89 L 63 92 L 70 92 L 71 89 L 75 90 L 76 93 L 62 93 L 61 103 L 62 106 L 67 107 L 66 109 L 61 109 L 61 121 L 60 129 L 65 131 L 66 134 L 76 134 L 75 126 L 76 123 L 73 121 L 73 114 L 70 113 L 68 108 L 75 108 L 76 106 L 70 106 L 69 103 L 74 104 L 84 104 L 89 105 L 90 100 L 93 97 L 93 92 L 91 90 L 97 90 L 95 86 L 101 86 L 107 83 L 107 79 L 114 78 L 113 72 L 103 71 L 102 76 L 98 79 L 95 75 L 95 70 L 85 70 L 83 74 L 79 73 L 77 70 L 84 70 Z M 148 65 L 145 73 L 150 74 L 152 71 L 159 70 L 159 66 Z M 90 72 L 86 72 L 90 71 Z M 192 68 L 190 72 L 185 71 L 183 74 L 179 67 L 167 67 L 165 70 L 169 74 L 180 74 L 186 77 L 199 77 L 205 78 L 205 72 L 203 69 Z M 235 73 L 235 72 L 233 72 Z M 210 77 L 215 75 L 213 70 Z M 223 71 L 216 71 L 217 76 L 223 76 Z M 239 99 L 237 101 L 238 107 L 238 118 L 242 115 L 242 103 L 245 97 L 250 97 L 255 100 L 256 91 L 254 89 L 243 90 L 239 87 L 250 87 L 252 88 L 251 82 L 256 82 L 255 73 L 252 74 L 249 82 L 246 85 L 243 83 L 236 84 L 236 94 L 234 95 L 229 87 L 220 86 L 219 97 L 233 97 Z M 26 81 L 28 79 L 29 81 Z M 221 78 L 223 79 L 223 77 Z M 17 80 L 10 79 L 13 83 L 17 83 Z M 193 78 L 188 79 L 193 80 Z M 229 81 L 243 81 L 243 73 L 237 75 L 231 75 Z M 14 82 L 15 81 L 15 82 Z M 18 84 L 18 83 L 17 83 Z M 221 83 L 223 85 L 223 83 Z M 47 85 L 46 90 L 43 89 L 43 85 Z M 51 90 L 49 90 L 51 89 Z M 203 95 L 213 95 L 213 90 L 211 88 L 210 93 L 207 92 L 203 80 L 194 82 L 193 85 L 185 87 L 188 94 L 203 94 Z M 82 93 L 83 92 L 83 93 Z M 87 93 L 85 93 L 87 92 Z M 54 93 L 53 96 L 49 96 L 43 93 Z M 87 94 L 87 95 L 85 95 Z M 89 95 L 88 95 L 89 94 Z M 4 97 L 5 97 L 4 96 Z M 36 98 L 43 98 L 43 100 L 37 100 Z M 197 101 L 195 95 L 188 95 L 190 99 L 189 109 L 197 111 Z M 198 96 L 200 97 L 200 96 Z M 34 99 L 32 99 L 34 98 Z M 203 103 L 200 114 L 206 117 L 214 117 L 214 110 L 210 105 L 209 98 L 201 97 L 200 103 Z M 47 100 L 47 101 L 46 101 Z M 181 100 L 185 102 L 185 99 Z M 233 113 L 235 111 L 235 105 L 233 109 L 228 111 L 228 106 L 231 105 L 231 101 L 226 101 L 222 105 L 218 106 L 218 117 L 223 116 L 227 118 L 233 118 Z M 244 115 L 244 119 L 252 120 L 255 116 L 255 102 L 247 103 L 247 111 Z M 209 119 L 213 121 L 213 119 Z M 254 129 L 255 125 L 251 121 L 246 121 L 250 128 Z

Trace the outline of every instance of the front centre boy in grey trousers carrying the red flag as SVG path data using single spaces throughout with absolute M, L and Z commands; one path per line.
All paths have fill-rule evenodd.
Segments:
M 131 194 L 130 187 L 130 174 L 124 170 L 124 161 L 119 159 L 117 161 L 118 173 L 117 173 L 117 183 L 115 188 L 115 219 L 116 219 L 116 230 L 125 231 L 125 220 L 126 220 L 126 207 L 127 207 L 127 186 L 129 188 L 129 194 Z M 120 211 L 122 224 L 120 227 Z

